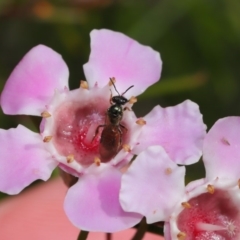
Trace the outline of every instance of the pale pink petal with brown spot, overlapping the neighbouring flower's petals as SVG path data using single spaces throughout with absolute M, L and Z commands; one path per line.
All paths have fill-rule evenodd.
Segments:
M 164 149 L 152 146 L 139 154 L 122 177 L 120 202 L 147 223 L 165 221 L 184 194 L 185 167 L 178 167 Z

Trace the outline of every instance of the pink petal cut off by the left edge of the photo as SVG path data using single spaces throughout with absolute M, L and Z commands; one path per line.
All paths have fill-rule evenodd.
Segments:
M 46 181 L 57 165 L 40 135 L 22 125 L 0 129 L 0 143 L 1 192 L 17 194 L 37 179 Z

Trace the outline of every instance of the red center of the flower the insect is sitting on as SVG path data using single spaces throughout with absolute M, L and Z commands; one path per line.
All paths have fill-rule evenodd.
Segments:
M 102 162 L 110 161 L 108 154 L 105 153 L 106 159 L 104 159 L 100 151 L 100 144 L 102 144 L 100 139 L 104 127 L 99 128 L 96 134 L 99 125 L 109 123 L 105 119 L 109 106 L 110 103 L 101 98 L 94 99 L 85 106 L 80 102 L 66 102 L 61 105 L 54 113 L 53 141 L 58 152 L 66 157 L 74 156 L 74 159 L 83 166 L 92 164 L 96 157 L 100 157 Z M 127 134 L 125 131 L 122 132 L 122 139 L 125 140 Z M 105 143 L 106 141 L 114 142 L 114 138 L 114 135 L 110 135 L 104 141 Z M 109 148 L 105 150 L 111 153 L 111 144 L 108 146 Z

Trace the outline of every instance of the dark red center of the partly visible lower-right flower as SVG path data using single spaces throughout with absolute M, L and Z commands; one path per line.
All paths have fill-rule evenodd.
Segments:
M 177 224 L 186 234 L 185 240 L 238 240 L 240 239 L 239 205 L 232 193 L 216 190 L 191 199 L 190 208 L 178 216 Z

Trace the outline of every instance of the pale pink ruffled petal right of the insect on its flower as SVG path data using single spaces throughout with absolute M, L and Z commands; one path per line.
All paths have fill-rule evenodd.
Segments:
M 199 160 L 206 126 L 196 103 L 186 100 L 174 107 L 156 106 L 144 120 L 146 125 L 134 153 L 160 145 L 177 164 L 187 165 Z

